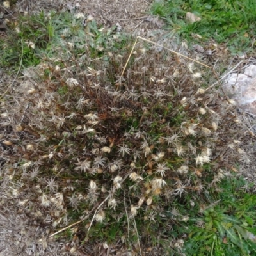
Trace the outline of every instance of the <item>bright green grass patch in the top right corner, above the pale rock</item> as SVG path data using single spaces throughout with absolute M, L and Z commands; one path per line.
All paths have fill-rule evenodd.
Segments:
M 186 13 L 200 17 L 200 22 L 189 24 Z M 170 0 L 157 1 L 152 13 L 166 20 L 175 34 L 189 42 L 207 43 L 214 39 L 228 45 L 231 54 L 244 54 L 255 49 L 256 3 L 246 1 Z

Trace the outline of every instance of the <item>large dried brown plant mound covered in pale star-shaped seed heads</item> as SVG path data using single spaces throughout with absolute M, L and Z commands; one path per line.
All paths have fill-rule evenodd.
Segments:
M 90 26 L 1 87 L 1 253 L 182 253 L 165 234 L 236 172 L 248 130 L 209 68 L 119 33 L 102 50 Z

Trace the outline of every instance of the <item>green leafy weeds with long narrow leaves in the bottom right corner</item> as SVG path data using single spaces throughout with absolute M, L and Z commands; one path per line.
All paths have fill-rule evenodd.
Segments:
M 201 207 L 201 216 L 189 220 L 189 240 L 185 249 L 189 255 L 249 255 L 256 252 L 255 223 L 251 218 L 256 197 L 249 193 L 244 195 L 244 184 L 242 178 L 232 176 L 223 180 L 221 192 L 211 194 L 214 196 L 211 201 L 214 199 L 216 203 L 207 209 Z

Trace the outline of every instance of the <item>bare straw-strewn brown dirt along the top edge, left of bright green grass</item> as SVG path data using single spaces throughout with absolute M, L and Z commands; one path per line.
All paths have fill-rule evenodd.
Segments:
M 20 1 L 17 4 L 19 11 L 38 12 L 40 10 L 68 10 L 72 13 L 83 13 L 92 15 L 99 24 L 104 26 L 113 26 L 118 24 L 125 31 L 134 33 L 134 31 L 156 29 L 162 26 L 162 22 L 155 17 L 152 19 L 148 14 L 150 1 L 131 0 L 131 1 Z

